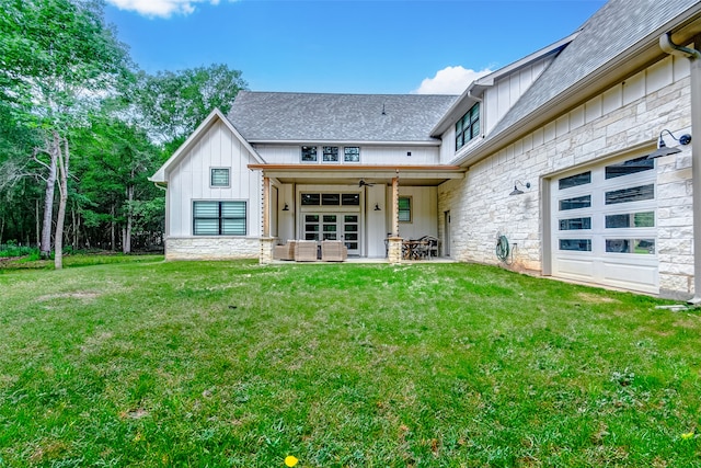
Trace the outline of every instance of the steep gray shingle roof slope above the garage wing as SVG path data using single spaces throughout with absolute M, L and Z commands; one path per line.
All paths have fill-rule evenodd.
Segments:
M 674 20 L 699 0 L 611 0 L 583 25 L 579 35 L 495 126 L 492 136 L 540 106 Z

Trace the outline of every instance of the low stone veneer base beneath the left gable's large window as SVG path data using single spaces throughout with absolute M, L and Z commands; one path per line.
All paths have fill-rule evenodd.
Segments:
M 257 259 L 258 238 L 188 237 L 165 239 L 165 260 Z

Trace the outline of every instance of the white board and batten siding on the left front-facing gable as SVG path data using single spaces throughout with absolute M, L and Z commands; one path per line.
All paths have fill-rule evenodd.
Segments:
M 226 125 L 215 123 L 168 175 L 168 203 L 172 208 L 169 210 L 168 237 L 193 237 L 195 201 L 245 201 L 245 237 L 260 237 L 261 173 L 248 168 L 248 164 L 254 162 L 254 157 Z M 228 187 L 210 186 L 212 168 L 230 169 Z

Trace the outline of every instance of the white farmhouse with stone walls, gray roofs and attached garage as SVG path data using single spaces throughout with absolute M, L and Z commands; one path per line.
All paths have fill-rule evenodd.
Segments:
M 612 0 L 460 96 L 243 91 L 151 178 L 166 258 L 342 239 L 401 262 L 428 235 L 460 261 L 691 298 L 700 43 L 701 2 Z

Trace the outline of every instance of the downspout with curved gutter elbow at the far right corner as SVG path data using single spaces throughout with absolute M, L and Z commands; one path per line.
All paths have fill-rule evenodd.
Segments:
M 701 35 L 694 37 L 699 47 Z M 667 54 L 689 59 L 691 71 L 691 130 L 701 132 L 701 52 L 671 42 L 670 33 L 659 36 L 659 47 Z M 691 140 L 691 186 L 693 206 L 693 297 L 689 304 L 701 304 L 701 135 Z

